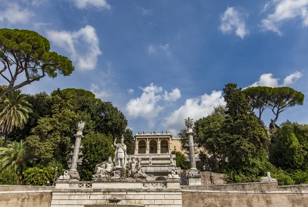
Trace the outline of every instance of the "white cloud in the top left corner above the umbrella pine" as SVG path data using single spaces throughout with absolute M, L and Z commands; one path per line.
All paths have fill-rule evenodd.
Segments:
M 4 3 L 2 3 L 2 6 Z M 6 10 L 0 11 L 0 22 L 6 19 L 10 24 L 27 24 L 34 13 L 16 3 L 8 4 Z

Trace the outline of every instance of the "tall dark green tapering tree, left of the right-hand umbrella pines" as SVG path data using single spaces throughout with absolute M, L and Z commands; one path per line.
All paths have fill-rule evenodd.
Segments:
M 245 94 L 236 84 L 225 85 L 224 99 L 227 116 L 222 126 L 222 137 L 227 147 L 227 168 L 248 175 L 265 174 L 271 166 L 266 151 L 269 139 L 251 111 Z

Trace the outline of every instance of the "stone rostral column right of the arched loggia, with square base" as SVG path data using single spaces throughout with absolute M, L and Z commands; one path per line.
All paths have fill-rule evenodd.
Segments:
M 193 119 L 185 119 L 185 125 L 187 127 L 186 135 L 188 139 L 188 151 L 189 151 L 189 163 L 190 169 L 188 171 L 188 185 L 201 185 L 201 176 L 196 168 L 195 158 L 195 143 L 194 143 L 194 131 L 192 131 L 192 125 L 194 125 Z

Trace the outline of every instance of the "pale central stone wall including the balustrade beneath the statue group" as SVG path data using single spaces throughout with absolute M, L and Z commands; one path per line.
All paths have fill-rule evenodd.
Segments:
M 145 207 L 181 207 L 182 192 L 179 180 L 136 181 L 58 181 L 52 192 L 51 207 L 83 207 L 85 204 L 108 203 L 143 204 Z

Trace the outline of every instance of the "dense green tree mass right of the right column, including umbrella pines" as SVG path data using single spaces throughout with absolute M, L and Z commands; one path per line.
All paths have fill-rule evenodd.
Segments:
M 303 94 L 287 87 L 242 91 L 236 84 L 225 85 L 223 91 L 226 107 L 195 122 L 199 146 L 215 160 L 212 169 L 218 165 L 230 183 L 258 181 L 266 172 L 272 172 L 279 184 L 306 183 L 308 127 L 290 121 L 276 125 L 279 113 L 302 105 Z M 275 114 L 272 130 L 261 119 L 267 108 Z

